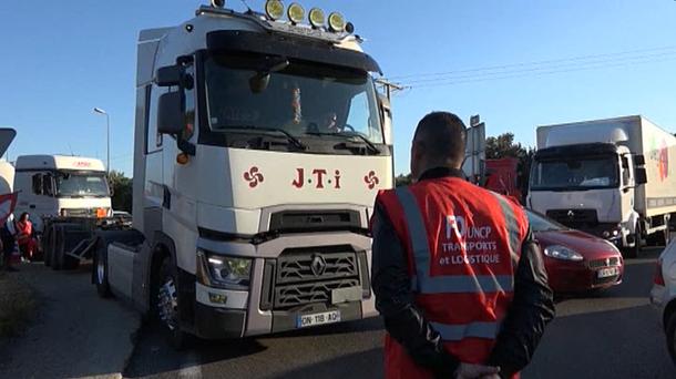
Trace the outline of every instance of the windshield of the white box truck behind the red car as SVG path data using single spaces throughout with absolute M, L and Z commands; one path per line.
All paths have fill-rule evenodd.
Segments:
M 584 191 L 618 186 L 615 156 L 561 157 L 535 161 L 532 191 Z

